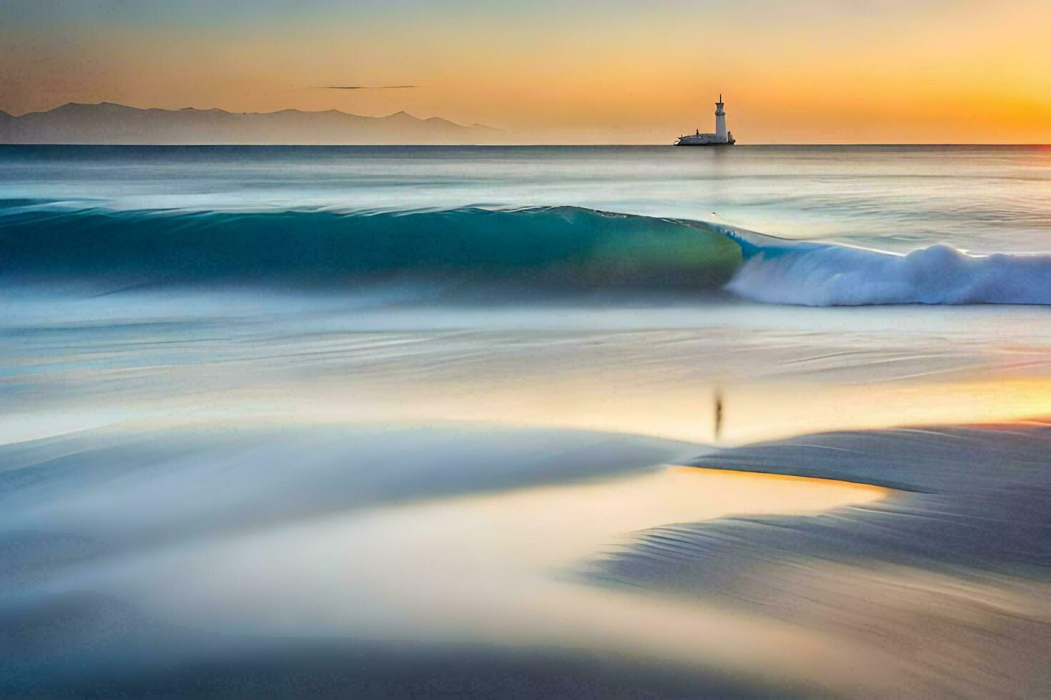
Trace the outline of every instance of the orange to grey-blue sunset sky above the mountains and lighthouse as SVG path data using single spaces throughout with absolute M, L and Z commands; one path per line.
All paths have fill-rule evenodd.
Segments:
M 1048 0 L 2 0 L 0 109 L 407 110 L 547 143 L 1051 143 Z M 415 85 L 332 90 L 327 85 Z

